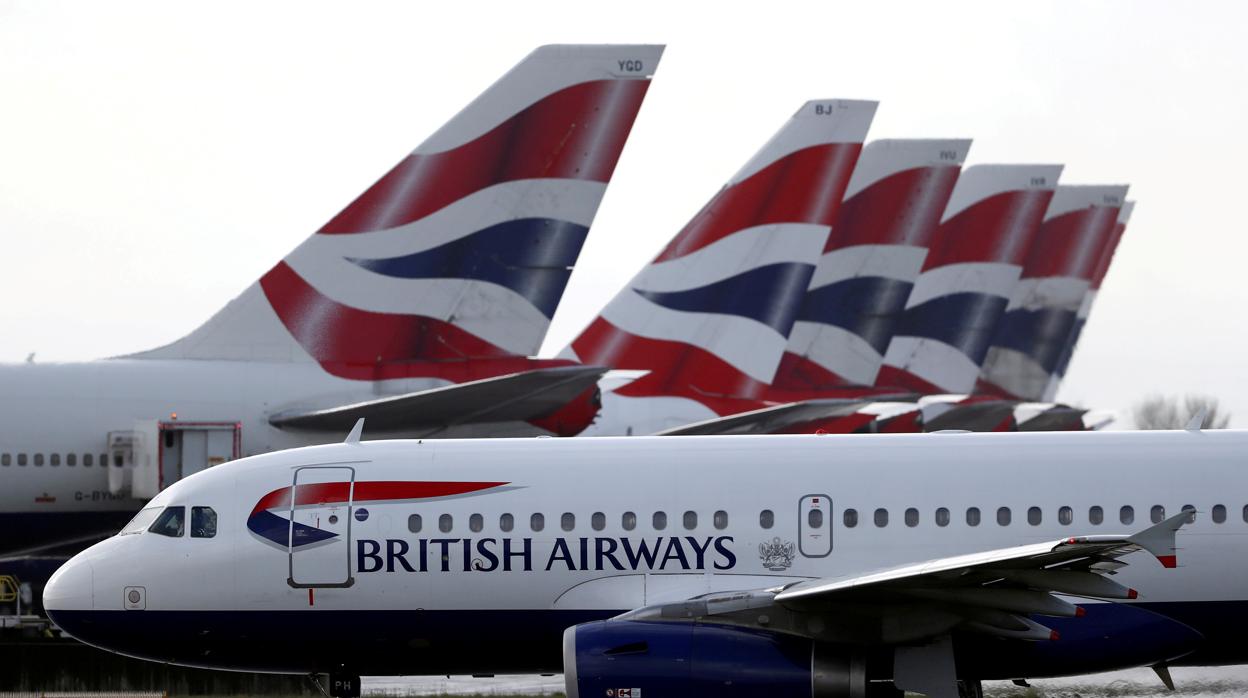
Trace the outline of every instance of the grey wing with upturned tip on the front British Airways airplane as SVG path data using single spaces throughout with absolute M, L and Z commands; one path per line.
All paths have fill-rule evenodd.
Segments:
M 764 617 L 771 629 L 812 634 L 811 618 L 831 618 L 829 623 L 841 627 L 822 627 L 819 633 L 890 644 L 922 642 L 953 629 L 1056 639 L 1053 631 L 1031 617 L 1077 617 L 1082 611 L 1055 594 L 1136 598 L 1134 589 L 1109 578 L 1127 564 L 1122 558 L 1147 551 L 1162 566 L 1176 567 L 1176 533 L 1193 516 L 1184 511 L 1132 536 L 1076 536 L 770 589 L 713 593 L 646 607 L 620 619 L 756 626 Z

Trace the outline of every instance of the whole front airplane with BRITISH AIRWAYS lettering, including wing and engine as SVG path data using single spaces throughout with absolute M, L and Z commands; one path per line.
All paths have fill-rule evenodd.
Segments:
M 168 487 L 56 572 L 51 619 L 337 697 L 361 674 L 562 671 L 572 697 L 946 698 L 1248 662 L 1248 432 L 362 427 Z

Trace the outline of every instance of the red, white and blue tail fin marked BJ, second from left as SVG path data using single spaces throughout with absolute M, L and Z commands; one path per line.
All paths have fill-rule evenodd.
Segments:
M 618 388 L 714 413 L 775 376 L 876 102 L 804 105 L 564 356 L 649 373 Z

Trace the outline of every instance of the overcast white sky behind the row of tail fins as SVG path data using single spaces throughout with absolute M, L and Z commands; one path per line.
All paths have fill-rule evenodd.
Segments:
M 703 9 L 705 7 L 705 9 Z M 1248 426 L 1243 2 L 0 0 L 0 361 L 192 330 L 547 42 L 664 42 L 544 355 L 805 100 L 1138 200 L 1066 401 Z

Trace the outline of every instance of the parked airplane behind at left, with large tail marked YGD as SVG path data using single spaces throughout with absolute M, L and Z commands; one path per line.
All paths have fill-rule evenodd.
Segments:
M 362 416 L 580 431 L 605 368 L 530 357 L 661 54 L 542 46 L 190 335 L 0 366 L 0 554 L 110 534 L 181 477 Z

